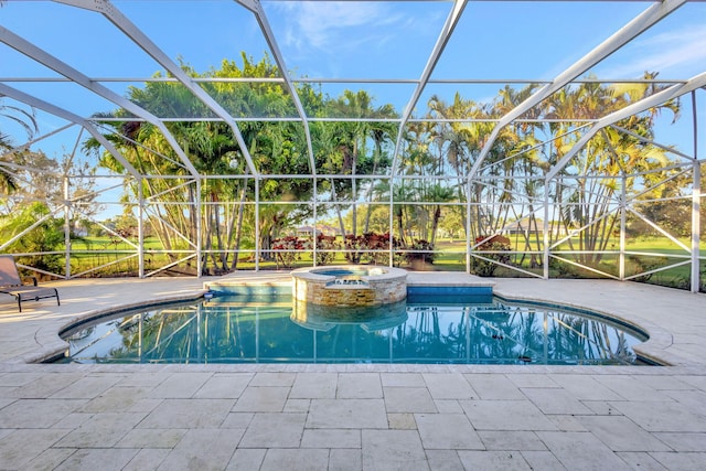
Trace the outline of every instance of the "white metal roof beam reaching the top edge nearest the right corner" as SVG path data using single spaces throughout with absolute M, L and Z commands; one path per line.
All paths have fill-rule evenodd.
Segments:
M 608 38 L 591 52 L 586 54 L 578 62 L 559 74 L 554 81 L 552 81 L 552 83 L 544 85 L 537 92 L 532 94 L 532 96 L 530 96 L 526 100 L 505 114 L 491 131 L 488 140 L 485 141 L 485 144 L 483 146 L 483 149 L 481 149 L 478 159 L 471 168 L 469 176 L 472 178 L 478 172 L 480 165 L 483 163 L 485 157 L 490 152 L 490 149 L 493 147 L 495 139 L 498 138 L 498 135 L 500 133 L 502 128 L 532 109 L 534 106 L 542 103 L 542 100 L 544 100 L 549 95 L 565 87 L 574 78 L 578 77 L 579 75 L 591 68 L 593 65 L 598 64 L 610 54 L 618 51 L 620 47 L 632 41 L 643 31 L 654 25 L 657 21 L 662 20 L 684 3 L 686 3 L 686 0 L 664 0 L 662 2 L 656 2 L 650 6 L 650 8 L 635 17 L 623 28 L 618 30 L 612 36 Z

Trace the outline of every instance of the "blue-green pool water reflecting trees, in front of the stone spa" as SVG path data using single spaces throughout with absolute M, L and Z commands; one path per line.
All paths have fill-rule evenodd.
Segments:
M 492 296 L 322 309 L 232 296 L 121 312 L 64 332 L 64 361 L 630 365 L 646 340 L 584 312 Z

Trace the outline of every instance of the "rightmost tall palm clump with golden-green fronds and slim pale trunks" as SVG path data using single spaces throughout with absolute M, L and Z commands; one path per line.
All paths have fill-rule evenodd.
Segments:
M 654 79 L 656 74 L 645 74 L 646 79 Z M 560 118 L 560 125 L 553 125 L 555 139 L 555 156 L 557 161 L 571 148 L 577 140 L 576 133 L 570 133 L 575 124 L 571 119 L 598 119 L 627 105 L 659 92 L 660 86 L 650 83 L 637 83 L 617 86 L 601 86 L 597 83 L 586 83 L 575 89 L 564 89 L 555 94 L 545 104 L 546 118 Z M 663 111 L 670 110 L 675 118 L 678 116 L 678 101 L 667 101 L 643 114 L 634 115 L 618 124 L 618 127 L 645 139 L 653 137 L 654 120 Z M 555 160 L 556 159 L 556 160 Z M 577 260 L 587 266 L 597 266 L 606 250 L 610 236 L 618 223 L 616 214 L 617 195 L 630 192 L 639 184 L 637 178 L 624 179 L 622 188 L 621 174 L 644 174 L 649 170 L 664 168 L 667 161 L 666 152 L 662 148 L 646 144 L 635 136 L 607 128 L 588 142 L 582 152 L 574 159 L 570 167 L 564 170 L 575 174 L 576 183 L 557 189 L 556 199 L 569 203 L 561 212 L 561 220 L 567 229 L 575 229 L 581 251 Z M 605 179 L 588 178 L 587 175 L 605 175 Z M 569 246 L 574 247 L 571 238 Z

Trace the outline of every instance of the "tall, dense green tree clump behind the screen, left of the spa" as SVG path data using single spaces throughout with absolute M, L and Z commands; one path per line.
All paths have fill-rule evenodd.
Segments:
M 279 76 L 279 71 L 265 56 L 259 62 L 243 55 L 243 66 L 232 61 L 223 61 L 221 68 L 211 69 L 200 75 L 191 67 L 182 67 L 192 76 L 215 78 L 271 78 Z M 281 117 L 293 114 L 293 104 L 281 84 L 269 81 L 240 83 L 216 81 L 204 84 L 206 92 L 214 97 L 226 110 L 234 116 L 257 116 L 261 118 Z M 302 87 L 302 96 L 309 101 L 321 100 L 320 95 L 312 93 L 310 87 Z M 162 117 L 210 117 L 211 111 L 205 105 L 180 84 L 169 82 L 150 82 L 143 87 L 132 87 L 129 90 L 132 101 Z M 317 106 L 317 103 L 312 104 Z M 113 116 L 126 116 L 117 110 Z M 108 121 L 115 132 L 108 138 L 124 153 L 130 163 L 142 174 L 151 178 L 143 179 L 142 194 L 169 194 L 178 202 L 174 205 L 154 205 L 156 217 L 150 218 L 154 233 L 160 237 L 163 246 L 174 249 L 184 246 L 181 237 L 174 233 L 186 234 L 190 240 L 203 237 L 206 251 L 211 248 L 212 257 L 204 258 L 203 266 L 211 264 L 218 270 L 235 268 L 236 258 L 228 261 L 228 253 L 239 250 L 245 236 L 243 228 L 248 214 L 246 202 L 260 200 L 274 202 L 260 205 L 259 246 L 269 248 L 271 239 L 292 221 L 301 220 L 310 213 L 308 206 L 291 206 L 277 204 L 278 201 L 307 201 L 313 188 L 311 179 L 286 181 L 282 179 L 266 179 L 259 185 L 259 194 L 255 194 L 253 179 L 208 179 L 202 185 L 204 194 L 196 195 L 190 174 L 179 162 L 173 149 L 164 137 L 150 124 L 126 120 L 124 122 Z M 175 137 L 180 147 L 189 156 L 200 175 L 223 176 L 228 174 L 247 175 L 244 163 L 245 150 L 237 144 L 233 129 L 218 121 L 170 121 L 165 125 Z M 288 121 L 245 121 L 239 126 L 247 152 L 263 175 L 267 174 L 309 174 L 309 158 L 303 132 L 300 126 Z M 87 141 L 88 148 L 98 149 L 97 142 Z M 122 172 L 120 163 L 104 153 L 103 164 L 113 171 Z M 179 179 L 169 178 L 176 175 Z M 162 176 L 153 178 L 153 176 Z M 132 197 L 139 194 L 137 183 L 130 184 Z M 202 227 L 204 234 L 196 234 L 196 218 L 202 215 L 194 211 L 194 202 L 202 199 L 206 202 Z M 236 201 L 236 204 L 229 202 Z M 252 211 L 250 211 L 252 214 Z M 225 220 L 224 220 L 225 218 Z M 254 228 L 253 225 L 250 225 Z M 226 233 L 223 234 L 225 228 Z M 176 231 L 174 231 L 176 229 Z M 233 231 L 236 232 L 234 235 Z M 250 243 L 254 245 L 254 231 L 250 232 Z M 234 244 L 234 245 L 232 245 Z M 220 257 L 216 257 L 220 254 Z

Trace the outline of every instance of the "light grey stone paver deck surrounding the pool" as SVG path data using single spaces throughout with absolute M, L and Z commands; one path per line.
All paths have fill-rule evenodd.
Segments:
M 287 274 L 239 274 L 281 283 Z M 415 274 L 415 282 L 462 281 Z M 51 283 L 0 296 L 0 470 L 702 470 L 706 296 L 496 279 L 507 298 L 609 313 L 673 366 L 61 365 L 73 320 L 196 296 L 205 279 Z

